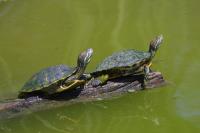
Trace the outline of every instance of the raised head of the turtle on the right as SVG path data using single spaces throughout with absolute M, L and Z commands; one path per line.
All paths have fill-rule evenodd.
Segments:
M 149 52 L 152 54 L 152 56 L 155 55 L 156 51 L 160 47 L 161 43 L 163 41 L 163 36 L 159 35 L 156 38 L 154 38 L 149 45 Z

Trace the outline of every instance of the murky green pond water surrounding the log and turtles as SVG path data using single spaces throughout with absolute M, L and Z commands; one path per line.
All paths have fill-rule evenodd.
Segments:
M 0 0 L 0 99 L 15 97 L 41 68 L 87 71 L 114 51 L 147 50 L 163 34 L 153 68 L 170 85 L 0 120 L 0 133 L 188 133 L 200 131 L 200 17 L 196 0 Z

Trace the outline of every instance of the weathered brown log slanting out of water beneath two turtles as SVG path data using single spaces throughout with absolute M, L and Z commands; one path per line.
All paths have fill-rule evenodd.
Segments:
M 128 92 L 148 90 L 166 84 L 160 72 L 150 73 L 150 79 L 143 87 L 141 76 L 122 77 L 108 81 L 105 85 L 93 87 L 90 82 L 85 86 L 68 90 L 48 99 L 38 96 L 27 99 L 12 99 L 0 103 L 0 119 L 13 118 L 15 116 L 29 114 L 32 112 L 67 106 L 78 102 L 87 102 L 112 98 Z

